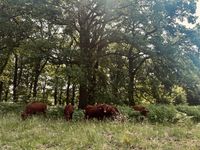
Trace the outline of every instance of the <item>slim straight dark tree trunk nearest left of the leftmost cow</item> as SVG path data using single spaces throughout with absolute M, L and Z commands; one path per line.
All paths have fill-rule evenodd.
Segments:
M 14 68 L 14 78 L 13 78 L 13 101 L 18 101 L 17 96 L 17 77 L 18 77 L 18 56 L 15 54 L 15 68 Z

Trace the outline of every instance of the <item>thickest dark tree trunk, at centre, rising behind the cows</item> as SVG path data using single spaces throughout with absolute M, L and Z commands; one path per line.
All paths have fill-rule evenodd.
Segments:
M 95 6 L 99 5 L 99 6 Z M 102 8 L 102 9 L 101 9 Z M 102 49 L 107 45 L 105 27 L 106 6 L 103 3 L 81 0 L 78 6 L 78 19 L 75 23 L 79 32 L 80 68 L 82 71 L 79 81 L 79 108 L 95 102 L 96 72 L 95 62 L 100 57 Z M 105 12 L 104 12 L 105 11 Z M 104 21 L 102 21 L 102 18 Z

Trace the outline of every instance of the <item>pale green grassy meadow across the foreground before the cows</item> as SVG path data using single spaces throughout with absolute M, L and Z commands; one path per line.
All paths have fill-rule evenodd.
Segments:
M 49 110 L 47 118 L 35 116 L 22 121 L 22 110 L 21 105 L 0 105 L 0 149 L 200 149 L 200 123 L 188 120 L 169 124 L 150 123 L 148 120 L 140 123 L 83 119 L 66 122 L 61 115 L 62 108 L 54 108 Z

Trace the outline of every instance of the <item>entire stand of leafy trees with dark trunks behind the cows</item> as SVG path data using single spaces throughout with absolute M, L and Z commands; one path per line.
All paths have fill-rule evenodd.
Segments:
M 0 101 L 200 104 L 196 3 L 1 0 Z

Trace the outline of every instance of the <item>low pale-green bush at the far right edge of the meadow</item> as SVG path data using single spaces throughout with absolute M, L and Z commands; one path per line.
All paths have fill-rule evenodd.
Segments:
M 191 116 L 193 121 L 200 122 L 200 106 L 178 105 L 176 106 L 176 109 Z

